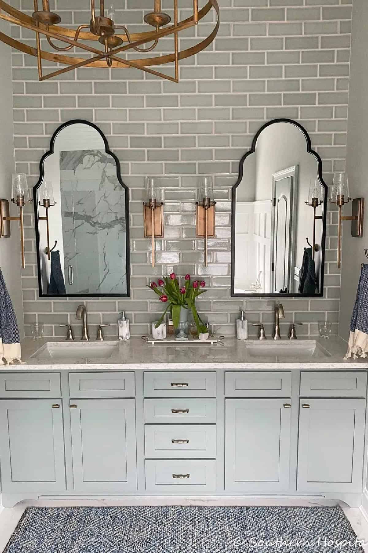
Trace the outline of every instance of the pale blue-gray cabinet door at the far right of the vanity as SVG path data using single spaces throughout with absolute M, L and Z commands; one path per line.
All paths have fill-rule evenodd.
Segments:
M 361 492 L 364 399 L 301 399 L 300 492 Z

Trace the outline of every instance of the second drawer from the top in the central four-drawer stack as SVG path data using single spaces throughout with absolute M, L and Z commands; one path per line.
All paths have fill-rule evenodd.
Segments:
M 216 399 L 145 399 L 145 422 L 216 422 Z

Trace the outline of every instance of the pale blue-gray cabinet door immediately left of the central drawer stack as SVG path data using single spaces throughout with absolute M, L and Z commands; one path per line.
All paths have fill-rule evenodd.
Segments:
M 70 401 L 74 490 L 137 489 L 134 399 Z

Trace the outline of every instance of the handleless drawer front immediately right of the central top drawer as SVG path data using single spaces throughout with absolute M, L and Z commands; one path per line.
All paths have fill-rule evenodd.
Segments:
M 285 398 L 291 394 L 291 372 L 239 371 L 225 374 L 225 395 L 243 398 Z

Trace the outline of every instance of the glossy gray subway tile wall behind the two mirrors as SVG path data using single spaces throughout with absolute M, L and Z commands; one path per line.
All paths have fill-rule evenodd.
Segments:
M 118 21 L 124 19 L 138 30 L 149 7 L 149 0 L 122 0 Z M 190 7 L 191 0 L 179 0 L 182 18 L 188 17 Z M 168 11 L 172 3 L 164 0 L 163 8 Z M 248 320 L 263 322 L 270 335 L 273 299 L 230 297 L 231 187 L 254 133 L 276 117 L 297 119 L 310 132 L 327 184 L 334 170 L 344 170 L 351 2 L 220 0 L 220 8 L 216 40 L 204 52 L 183 60 L 178 85 L 134 69 L 79 69 L 40 83 L 35 58 L 12 54 L 17 171 L 28 174 L 33 186 L 39 159 L 49 149 L 55 129 L 68 119 L 88 119 L 102 129 L 118 156 L 130 195 L 131 298 L 127 299 L 39 299 L 33 207 L 26 208 L 22 272 L 26 335 L 38 321 L 44 322 L 46 336 L 63 336 L 58 325 L 69 323 L 78 337 L 75 312 L 81 302 L 87 305 L 91 336 L 103 322 L 111 325 L 105 336 L 115 337 L 123 309 L 131 335 L 147 334 L 162 304 L 146 285 L 172 271 L 206 280 L 208 291 L 198 300 L 198 309 L 212 331 L 234 335 L 235 320 L 244 308 Z M 86 0 L 57 0 L 56 9 L 63 22 L 75 27 L 89 19 Z M 212 30 L 211 13 L 205 21 L 184 32 L 182 48 L 191 45 L 193 36 L 203 37 Z M 34 45 L 28 30 L 12 28 L 14 37 L 19 32 Z M 171 48 L 168 40 L 163 44 L 162 51 Z M 157 241 L 154 268 L 142 217 L 145 176 L 151 174 L 173 177 L 165 189 L 166 228 L 164 238 Z M 194 200 L 201 174 L 214 175 L 217 200 L 216 238 L 209 240 L 208 267 L 203 240 L 195 238 Z M 328 209 L 324 298 L 284 298 L 284 336 L 292 321 L 303 322 L 299 336 L 318 335 L 317 322 L 325 319 L 337 332 L 337 213 Z M 249 331 L 255 337 L 257 329 L 250 326 Z

